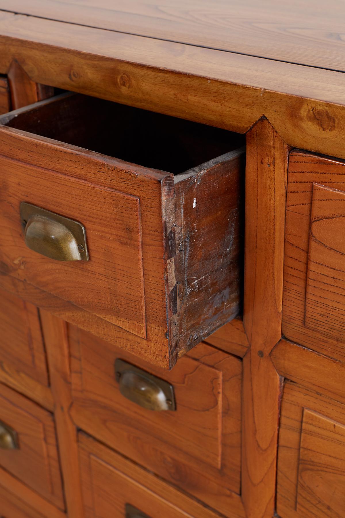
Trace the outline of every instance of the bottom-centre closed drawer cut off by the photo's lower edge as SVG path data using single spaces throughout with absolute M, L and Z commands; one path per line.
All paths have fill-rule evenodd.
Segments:
M 85 518 L 216 517 L 83 433 L 79 444 Z

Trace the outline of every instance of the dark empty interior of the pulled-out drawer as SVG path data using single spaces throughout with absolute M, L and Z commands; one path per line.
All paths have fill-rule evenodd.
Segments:
M 244 145 L 243 135 L 71 92 L 0 123 L 176 175 Z

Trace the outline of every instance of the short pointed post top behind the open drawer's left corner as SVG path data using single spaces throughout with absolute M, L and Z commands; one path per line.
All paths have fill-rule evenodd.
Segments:
M 32 81 L 15 59 L 10 64 L 7 77 L 13 110 L 54 95 L 52 87 Z

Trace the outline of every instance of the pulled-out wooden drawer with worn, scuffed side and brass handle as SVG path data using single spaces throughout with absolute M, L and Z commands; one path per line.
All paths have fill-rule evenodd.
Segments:
M 7 289 L 164 368 L 234 318 L 243 137 L 71 93 L 0 123 Z

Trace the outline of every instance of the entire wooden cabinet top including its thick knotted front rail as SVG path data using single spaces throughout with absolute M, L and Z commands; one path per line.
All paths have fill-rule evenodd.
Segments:
M 198 0 L 199 4 L 187 0 L 181 16 L 175 13 L 174 23 L 167 12 L 175 12 L 181 0 L 172 0 L 169 8 L 166 1 L 159 8 L 139 1 L 121 8 L 125 4 L 117 0 L 115 10 L 110 0 L 99 0 L 97 6 L 95 0 L 74 0 L 74 4 L 69 0 L 0 0 L 0 74 L 7 74 L 16 60 L 37 83 L 237 133 L 246 133 L 264 116 L 290 146 L 345 159 L 345 74 L 340 71 L 345 38 L 340 33 L 332 33 L 339 34 L 333 38 L 327 32 L 323 41 L 317 30 L 305 39 L 287 30 L 289 43 L 278 45 L 280 36 L 274 31 L 262 29 L 261 38 L 256 38 L 253 29 L 252 36 L 243 36 L 248 45 L 251 41 L 248 50 L 239 47 L 241 38 L 235 35 L 244 35 L 243 27 L 257 16 L 251 0 L 244 0 L 242 6 L 238 3 L 237 10 L 234 6 L 239 0 L 216 0 L 207 7 L 209 15 L 202 22 L 198 18 L 198 26 L 191 13 L 198 6 L 201 9 L 204 0 Z M 335 18 L 334 27 L 338 22 L 341 25 L 340 0 L 330 0 L 335 8 L 327 12 L 316 8 L 318 2 L 309 5 L 315 27 L 322 23 L 331 27 L 327 12 Z M 277 15 L 273 0 L 262 5 L 258 20 L 271 12 L 270 5 Z M 229 14 L 231 6 L 237 13 L 234 18 Z M 297 7 L 294 18 L 301 26 L 302 7 L 299 11 Z M 211 15 L 218 12 L 216 8 L 223 13 L 218 17 L 220 28 Z M 305 4 L 304 9 L 307 12 Z M 238 21 L 240 12 L 242 22 Z M 283 11 L 279 12 L 284 18 Z M 258 20 L 251 22 L 253 27 Z M 188 25 L 192 21 L 193 30 Z M 154 32 L 162 27 L 166 27 L 164 34 Z M 226 50 L 217 50 L 221 47 L 217 38 Z M 274 59 L 279 46 L 281 53 Z M 266 55 L 259 57 L 260 53 Z

